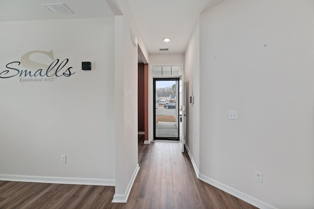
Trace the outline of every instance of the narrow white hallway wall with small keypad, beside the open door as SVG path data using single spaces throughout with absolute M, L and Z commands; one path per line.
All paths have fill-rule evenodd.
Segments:
M 185 52 L 185 146 L 198 175 L 200 166 L 200 22 L 198 21 Z M 189 97 L 194 97 L 190 104 Z

